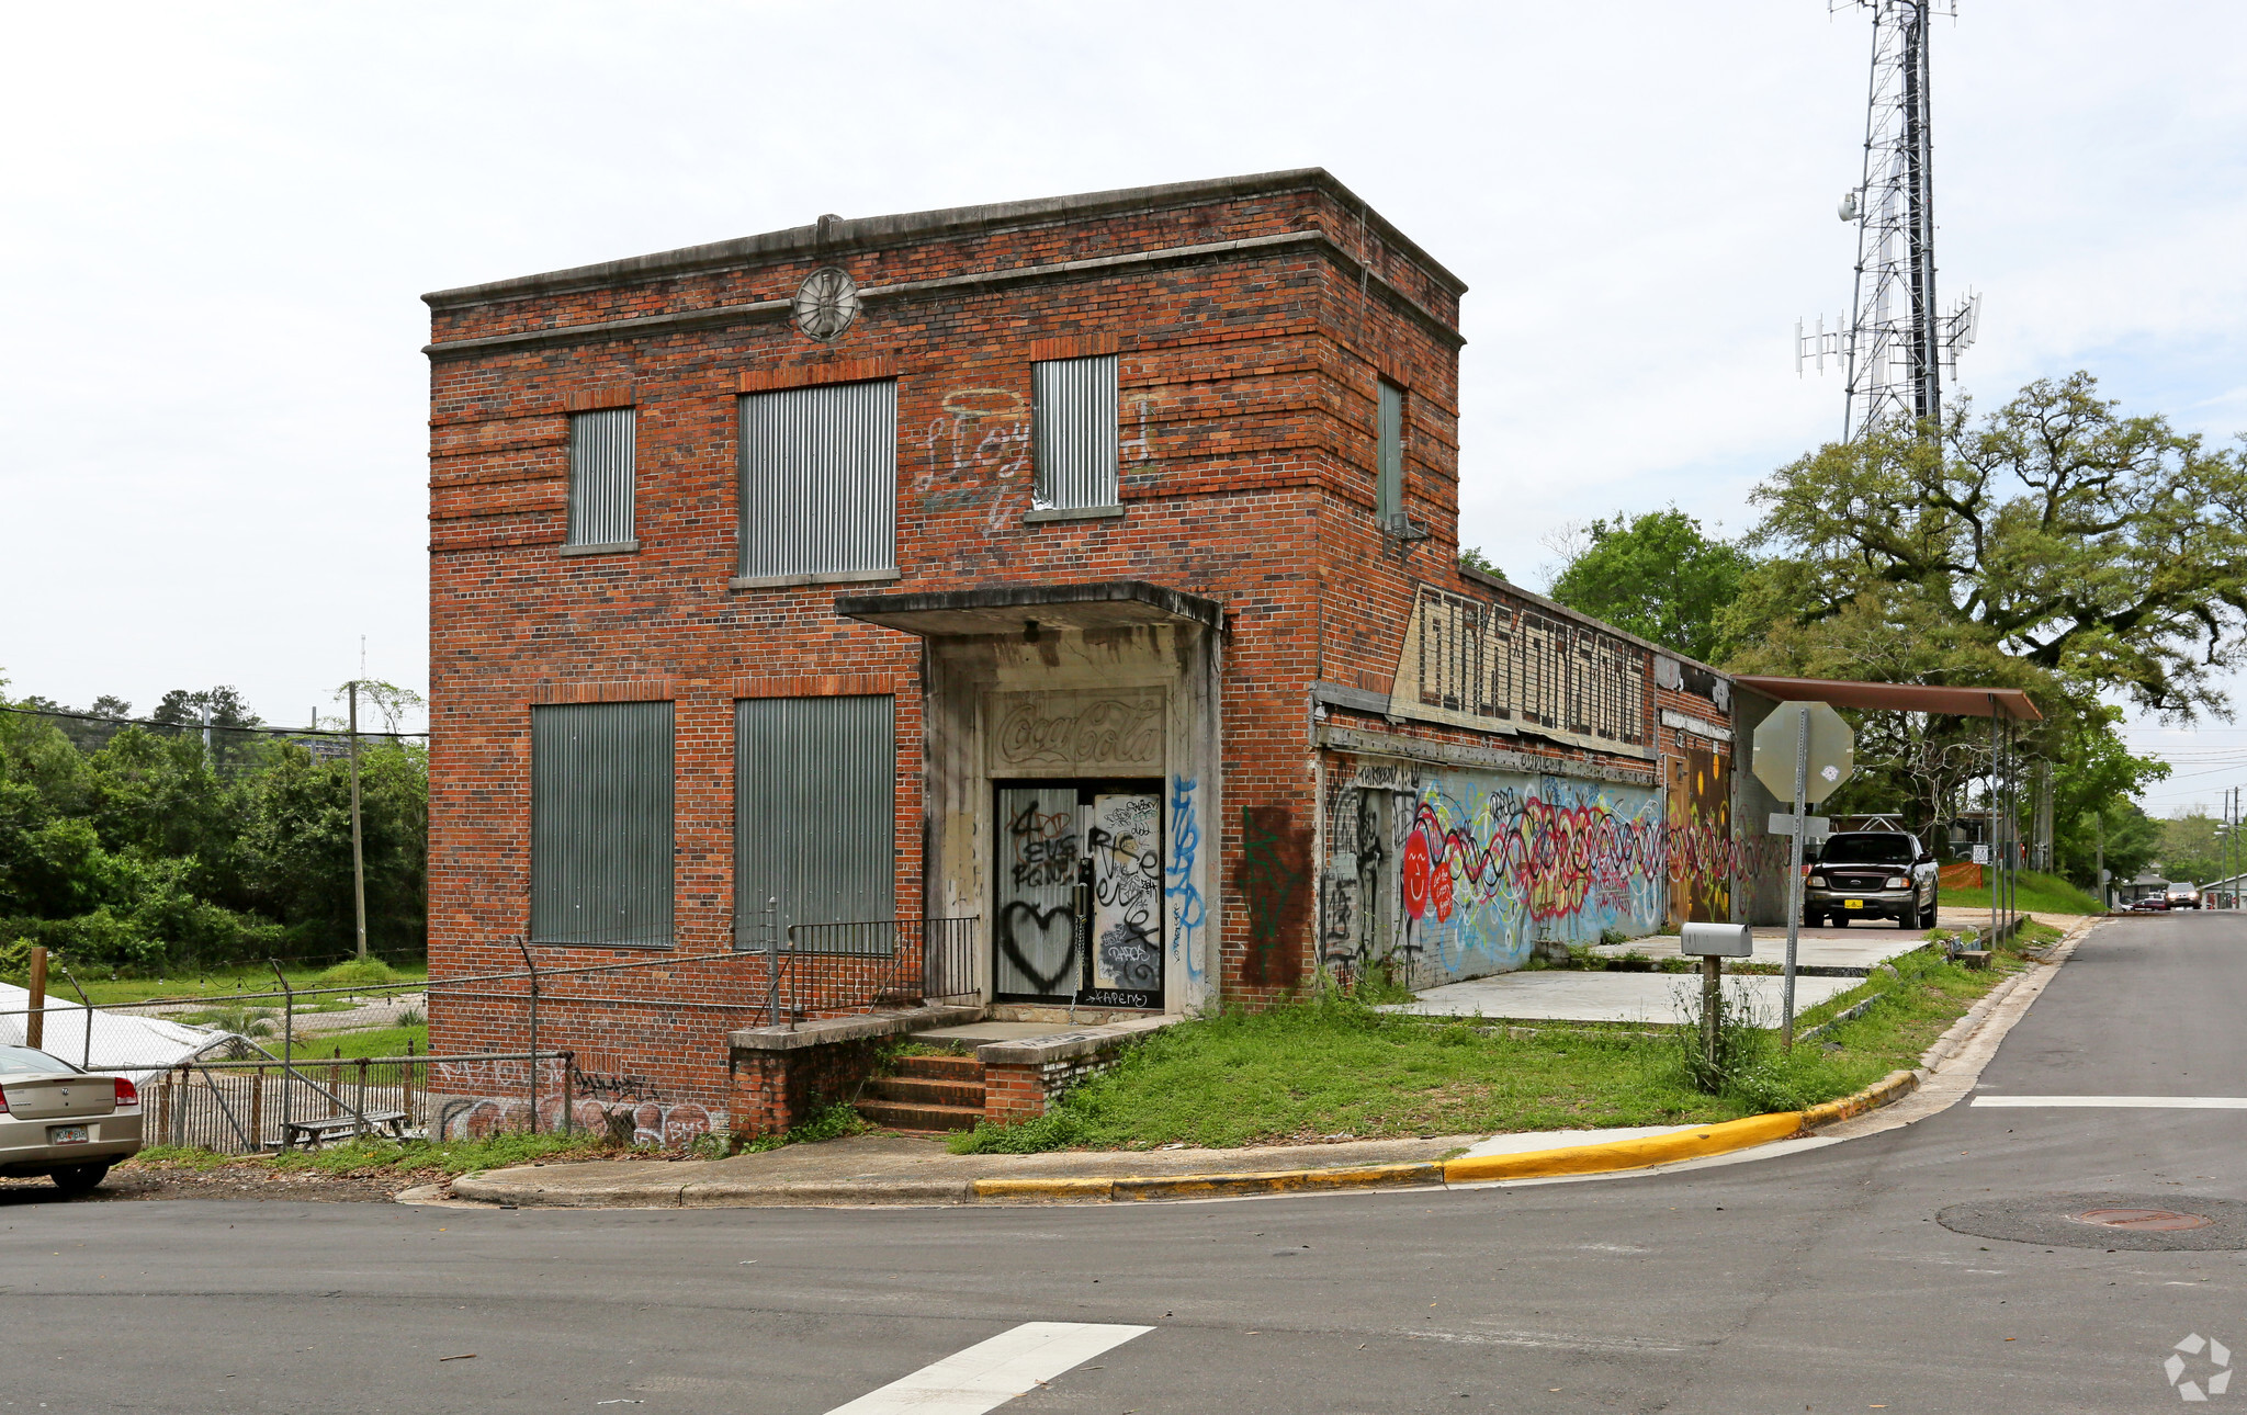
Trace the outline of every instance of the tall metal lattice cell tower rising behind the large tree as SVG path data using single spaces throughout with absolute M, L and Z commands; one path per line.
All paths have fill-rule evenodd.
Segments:
M 1935 168 L 1928 124 L 1928 20 L 1957 18 L 1957 0 L 1829 0 L 1872 11 L 1872 99 L 1865 112 L 1865 175 L 1843 193 L 1840 218 L 1856 222 L 1856 294 L 1849 323 L 1804 332 L 1795 321 L 1795 375 L 1838 362 L 1849 375 L 1843 440 L 1863 431 L 1941 418 L 1944 373 L 1982 321 L 1968 294 L 1948 314 L 1935 305 Z

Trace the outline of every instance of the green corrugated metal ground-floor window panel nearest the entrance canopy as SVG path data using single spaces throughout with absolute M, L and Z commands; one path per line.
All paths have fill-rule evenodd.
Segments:
M 733 714 L 735 928 L 897 916 L 897 701 L 742 699 Z

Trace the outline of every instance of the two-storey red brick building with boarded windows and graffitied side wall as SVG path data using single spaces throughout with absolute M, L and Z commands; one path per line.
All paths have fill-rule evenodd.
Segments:
M 928 930 L 1083 1020 L 1726 916 L 1726 681 L 1458 568 L 1463 292 L 1312 168 L 425 296 L 434 973 Z M 771 1006 L 575 986 L 719 1105 Z

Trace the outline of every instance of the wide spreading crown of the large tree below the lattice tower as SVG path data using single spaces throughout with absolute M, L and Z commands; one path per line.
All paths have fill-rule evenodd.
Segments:
M 1995 413 L 1831 442 L 1759 485 L 1775 553 L 1744 618 L 1843 615 L 1881 588 L 2069 685 L 2227 714 L 2247 627 L 2247 458 L 2121 416 L 2090 373 Z

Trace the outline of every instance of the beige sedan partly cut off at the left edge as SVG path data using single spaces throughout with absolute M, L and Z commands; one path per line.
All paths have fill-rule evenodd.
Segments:
M 0 1175 L 90 1193 L 139 1152 L 139 1087 L 31 1047 L 0 1047 Z

